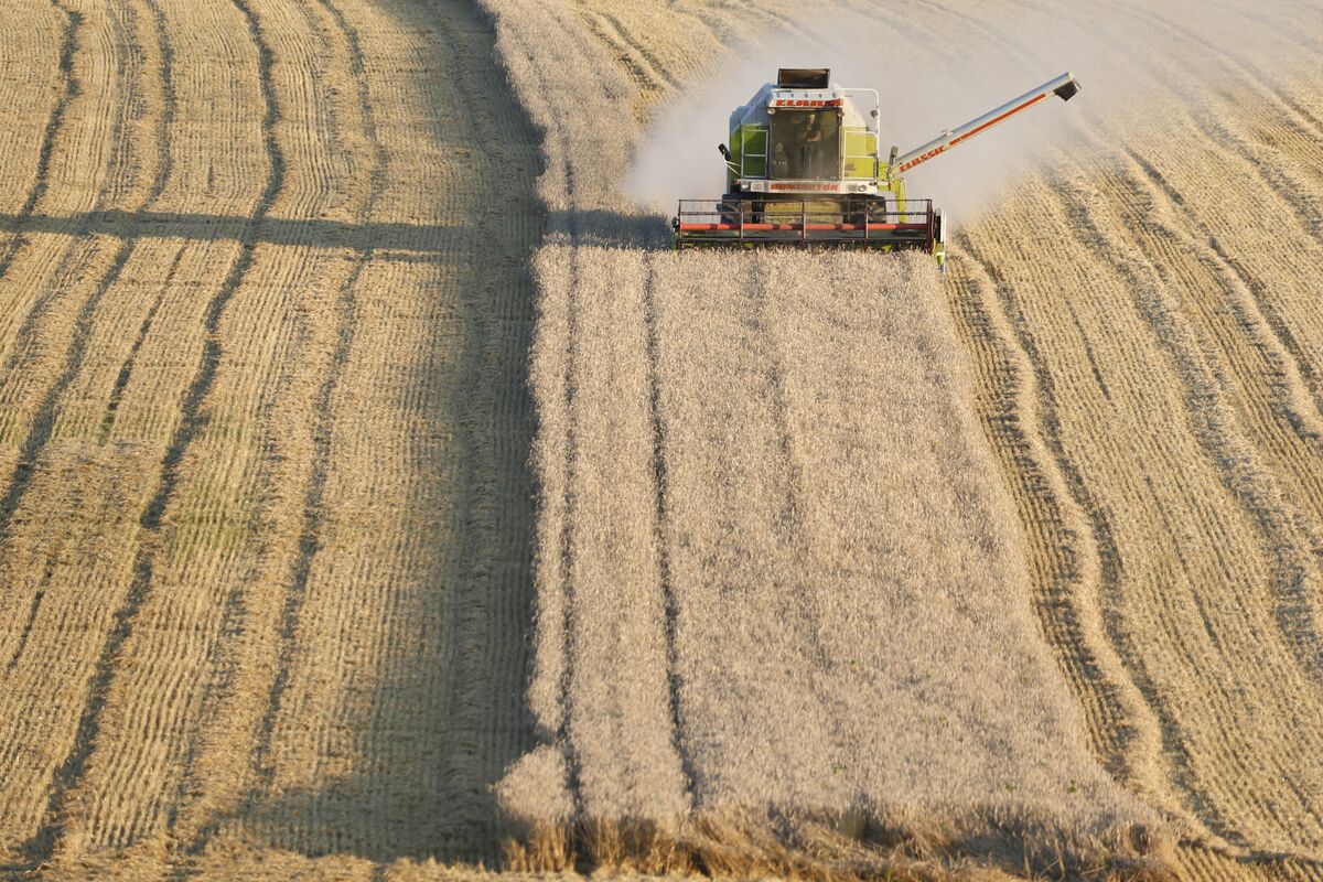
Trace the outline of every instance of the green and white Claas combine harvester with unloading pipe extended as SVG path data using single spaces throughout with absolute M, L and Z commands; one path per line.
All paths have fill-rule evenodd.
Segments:
M 876 90 L 841 89 L 826 67 L 783 67 L 775 83 L 730 115 L 730 145 L 718 145 L 729 192 L 680 200 L 675 246 L 922 249 L 945 270 L 946 218 L 931 200 L 906 198 L 901 175 L 1052 95 L 1070 100 L 1077 91 L 1076 78 L 1061 74 L 908 153 L 893 147 L 884 159 Z

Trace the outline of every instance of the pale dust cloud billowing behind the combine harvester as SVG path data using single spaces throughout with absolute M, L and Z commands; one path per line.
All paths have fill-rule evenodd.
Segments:
M 1282 70 L 1304 54 L 1299 34 L 1289 40 L 1287 28 L 1323 33 L 1316 5 L 1289 3 L 1180 1 L 1148 17 L 1118 15 L 1139 8 L 1134 3 L 1080 0 L 970 7 L 975 12 L 918 3 L 904 16 L 851 0 L 824 7 L 815 4 L 798 29 L 750 41 L 720 78 L 659 108 L 626 180 L 639 208 L 673 213 L 679 198 L 725 192 L 717 144 L 729 136 L 730 112 L 774 79 L 777 67 L 830 66 L 843 86 L 877 89 L 884 155 L 892 144 L 902 153 L 913 149 L 1062 71 L 1074 73 L 1082 91 L 1069 103 L 1052 99 L 906 173 L 910 196 L 933 198 L 958 226 L 995 205 L 1023 175 L 1072 151 L 1098 149 L 1098 134 L 1105 143 L 1134 127 L 1160 130 L 1163 108 L 1179 103 L 1183 81 L 1226 75 L 1221 48 L 1234 45 L 1238 54 Z M 1085 128 L 1095 135 L 1091 144 L 1080 136 Z

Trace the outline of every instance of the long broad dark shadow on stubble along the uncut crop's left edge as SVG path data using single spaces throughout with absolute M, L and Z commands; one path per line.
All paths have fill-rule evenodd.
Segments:
M 534 744 L 528 707 L 533 621 L 536 431 L 528 377 L 533 329 L 531 259 L 546 217 L 534 181 L 537 131 L 505 86 L 492 21 L 467 0 L 384 0 L 381 13 L 418 34 L 426 65 L 410 66 L 419 138 L 443 145 L 464 116 L 488 165 L 468 169 L 487 192 L 437 216 L 454 226 L 382 225 L 377 253 L 441 261 L 439 325 L 394 374 L 392 394 L 421 402 L 410 432 L 415 489 L 406 522 L 433 525 L 431 545 L 400 554 L 407 582 L 392 586 L 396 620 L 376 639 L 365 678 L 369 727 L 360 768 L 258 811 L 308 819 L 310 853 L 353 853 L 378 865 L 400 858 L 499 860 L 504 824 L 495 784 Z M 447 62 L 438 58 L 452 60 Z M 490 175 L 490 167 L 500 169 Z M 455 172 L 448 172 L 454 175 Z M 294 234 L 296 230 L 290 230 Z M 339 238 L 335 226 L 321 233 Z M 284 234 L 275 227 L 274 235 Z M 430 245 L 430 247 L 429 247 Z M 441 282 L 438 282 L 441 284 Z M 418 316 L 419 321 L 429 320 Z M 414 419 L 414 417 L 410 417 Z M 340 837 L 339 833 L 348 833 Z

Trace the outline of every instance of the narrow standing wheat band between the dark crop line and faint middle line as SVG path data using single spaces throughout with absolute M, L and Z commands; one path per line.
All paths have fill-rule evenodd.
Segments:
M 659 413 L 667 475 L 667 549 L 679 616 L 681 743 L 696 807 L 792 803 L 803 770 L 835 787 L 843 746 L 814 688 L 818 635 L 807 549 L 796 542 L 798 488 L 785 450 L 779 378 L 766 353 L 747 257 L 658 259 Z M 799 726 L 795 739 L 785 729 Z M 767 792 L 747 792 L 766 774 Z

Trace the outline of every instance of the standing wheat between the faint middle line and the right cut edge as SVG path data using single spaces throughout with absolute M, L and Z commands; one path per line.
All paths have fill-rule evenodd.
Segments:
M 1053 817 L 1064 829 L 1098 830 L 1117 816 L 1138 820 L 1143 813 L 1127 804 L 1089 755 L 1078 714 L 1041 644 L 1021 594 L 1027 573 L 1013 509 L 995 477 L 982 431 L 963 405 L 964 356 L 931 267 L 921 257 L 908 263 L 893 268 L 892 280 L 872 262 L 841 261 L 831 267 L 827 284 L 812 286 L 799 263 L 787 261 L 771 267 L 765 282 L 771 291 L 790 292 L 770 300 L 770 323 L 785 361 L 791 438 L 814 442 L 799 448 L 804 532 L 815 549 L 826 551 L 820 565 L 839 567 L 836 578 L 824 578 L 830 587 L 820 594 L 820 620 L 837 636 L 831 648 L 840 653 L 835 670 L 841 673 L 827 678 L 823 692 L 839 709 L 832 715 L 849 721 L 848 742 L 860 746 L 852 764 L 867 770 L 868 792 L 877 803 L 922 804 L 933 799 L 925 795 L 946 791 L 937 801 L 1004 801 L 1020 812 Z M 878 282 L 872 309 L 861 309 L 848 288 L 848 280 L 867 270 Z M 886 345 L 876 345 L 877 340 Z M 888 467 L 878 480 L 875 464 L 880 463 L 904 465 Z M 902 501 L 896 489 L 914 499 Z M 885 540 L 878 542 L 878 534 Z M 908 565 L 877 566 L 881 550 Z M 890 582 L 888 595 L 900 596 L 878 603 L 876 581 Z M 906 615 L 914 599 L 917 610 Z M 913 633 L 905 633 L 906 623 Z M 914 789 L 898 787 L 894 766 L 912 750 L 896 731 L 905 726 L 896 719 L 880 723 L 892 714 L 876 713 L 878 701 L 860 697 L 860 677 L 847 673 L 848 660 L 856 657 L 855 647 L 868 645 L 868 635 L 897 635 L 875 661 L 861 662 L 881 672 L 873 674 L 878 677 L 873 689 L 885 684 L 889 692 L 888 681 L 900 677 L 888 677 L 888 662 L 908 664 L 909 657 L 931 653 L 947 632 L 962 627 L 975 633 L 966 644 L 970 656 L 960 662 L 942 653 L 929 666 L 960 670 L 942 690 L 957 709 L 957 725 L 999 742 L 999 750 L 990 750 L 974 770 L 967 795 L 951 792 L 949 782 L 958 780 L 958 772 L 943 775 L 927 759 L 931 744 L 919 754 L 926 762 L 910 760 Z M 930 631 L 922 633 L 925 628 Z M 999 696 L 962 694 L 966 678 L 987 676 L 980 666 L 995 652 L 1007 674 L 1015 672 L 1016 681 L 1004 682 L 1015 685 Z M 1029 684 L 1033 688 L 1025 689 Z M 925 707 L 919 718 L 931 710 Z M 996 738 L 994 726 L 1007 734 Z M 890 762 L 872 750 L 877 743 L 896 744 Z M 1041 763 L 1044 755 L 1056 763 Z M 1013 793 L 1005 795 L 1005 782 Z

